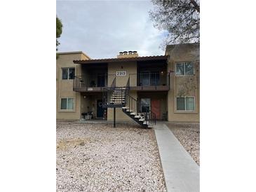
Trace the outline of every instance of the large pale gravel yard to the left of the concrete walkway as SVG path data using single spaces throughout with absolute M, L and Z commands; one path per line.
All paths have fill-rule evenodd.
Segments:
M 154 130 L 57 123 L 57 191 L 166 191 Z

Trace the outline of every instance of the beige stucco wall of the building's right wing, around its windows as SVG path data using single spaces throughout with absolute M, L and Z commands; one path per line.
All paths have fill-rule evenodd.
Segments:
M 200 83 L 199 83 L 199 45 L 184 44 L 181 46 L 168 46 L 166 54 L 170 55 L 168 60 L 168 71 L 175 71 L 176 62 L 194 62 L 194 76 L 175 76 L 170 74 L 170 90 L 168 91 L 168 121 L 200 121 Z M 186 83 L 186 82 L 194 83 Z M 195 111 L 177 111 L 176 97 L 180 94 L 180 87 L 186 83 L 189 89 L 185 95 L 195 97 Z M 196 85 L 191 88 L 191 85 Z

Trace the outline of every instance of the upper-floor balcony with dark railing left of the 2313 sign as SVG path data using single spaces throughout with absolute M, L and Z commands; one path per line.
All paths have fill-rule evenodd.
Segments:
M 114 74 L 74 76 L 73 90 L 77 92 L 100 92 L 103 88 L 110 87 L 114 78 Z

